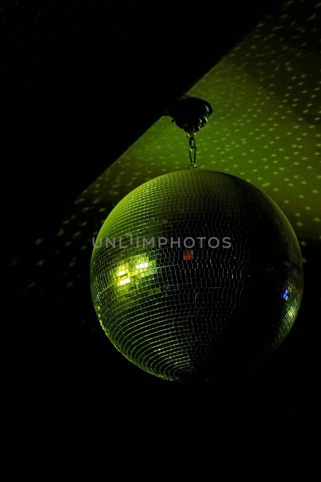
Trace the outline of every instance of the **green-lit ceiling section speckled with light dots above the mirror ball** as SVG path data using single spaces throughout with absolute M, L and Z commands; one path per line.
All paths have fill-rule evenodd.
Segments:
M 213 107 L 195 135 L 198 168 L 233 174 L 262 189 L 304 246 L 321 239 L 321 8 L 298 18 L 294 3 L 260 21 L 217 63 L 213 56 L 215 65 L 187 94 Z M 160 117 L 76 203 L 114 206 L 145 181 L 187 169 L 188 151 L 186 133 Z M 101 222 L 103 215 L 94 235 Z

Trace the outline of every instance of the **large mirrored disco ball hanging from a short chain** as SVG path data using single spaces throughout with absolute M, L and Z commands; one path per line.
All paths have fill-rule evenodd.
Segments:
M 295 233 L 238 177 L 196 169 L 156 177 L 116 205 L 95 246 L 98 319 L 150 374 L 213 381 L 247 370 L 295 321 L 303 293 Z

